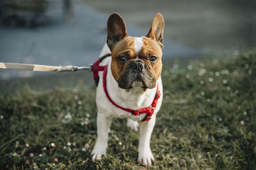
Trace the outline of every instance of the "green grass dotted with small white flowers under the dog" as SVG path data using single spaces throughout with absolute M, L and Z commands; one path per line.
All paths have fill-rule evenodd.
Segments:
M 255 169 L 256 52 L 164 67 L 152 169 Z M 116 119 L 108 155 L 93 162 L 95 87 L 24 87 L 0 97 L 2 169 L 142 169 L 138 132 Z

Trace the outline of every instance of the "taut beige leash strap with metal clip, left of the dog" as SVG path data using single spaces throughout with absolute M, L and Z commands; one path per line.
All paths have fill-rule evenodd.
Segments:
M 20 64 L 10 62 L 0 62 L 0 69 L 18 69 L 18 70 L 29 70 L 29 71 L 56 71 L 56 73 L 65 71 L 80 71 L 90 70 L 91 67 L 77 67 L 77 66 L 45 66 L 38 64 Z

